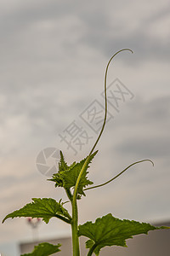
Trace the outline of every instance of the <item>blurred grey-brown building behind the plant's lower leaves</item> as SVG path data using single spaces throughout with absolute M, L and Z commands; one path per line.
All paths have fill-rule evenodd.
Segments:
M 170 226 L 170 222 L 155 224 L 156 226 Z M 85 237 L 81 237 L 81 255 L 87 255 L 88 250 L 85 248 Z M 38 242 L 20 243 L 20 253 L 31 253 Z M 71 237 L 54 239 L 48 241 L 53 244 L 61 243 L 61 252 L 54 253 L 57 256 L 71 256 Z M 149 235 L 134 236 L 133 239 L 127 240 L 127 247 L 105 247 L 101 249 L 101 256 L 169 256 L 170 230 L 150 231 Z

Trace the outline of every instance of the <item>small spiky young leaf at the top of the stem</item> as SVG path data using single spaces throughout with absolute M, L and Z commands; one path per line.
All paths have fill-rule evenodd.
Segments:
M 94 155 L 97 154 L 98 151 L 94 152 L 90 156 L 88 164 L 93 160 Z M 79 163 L 74 162 L 71 166 L 65 166 L 65 160 L 63 157 L 63 154 L 61 153 L 60 161 L 59 161 L 59 172 L 54 173 L 53 178 L 49 179 L 51 181 L 55 182 L 55 187 L 64 187 L 65 189 L 71 189 L 74 187 L 77 183 L 77 177 L 79 176 L 82 166 L 87 158 L 84 160 L 81 160 Z M 85 188 L 88 185 L 93 184 L 90 180 L 88 180 L 87 177 L 87 169 L 89 166 L 86 167 L 85 172 L 83 172 L 83 175 L 81 177 L 80 183 L 78 185 L 78 194 L 79 195 L 85 195 L 83 192 L 83 188 Z M 65 169 L 65 170 L 64 170 Z M 64 170 L 64 171 L 62 171 Z

